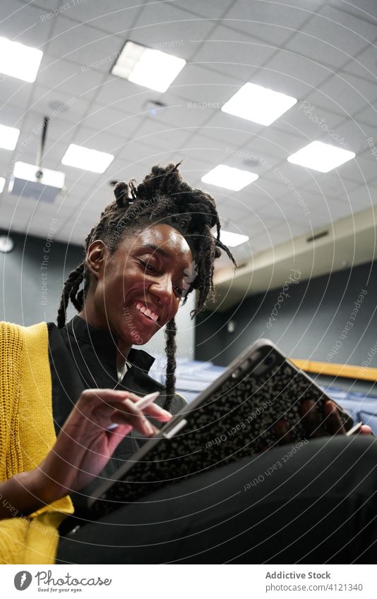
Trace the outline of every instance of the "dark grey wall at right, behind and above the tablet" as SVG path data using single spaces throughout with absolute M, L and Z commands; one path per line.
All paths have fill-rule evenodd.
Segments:
M 305 282 L 294 283 L 295 276 L 300 278 L 287 272 L 285 290 L 198 318 L 196 358 L 227 365 L 252 341 L 267 337 L 294 358 L 356 365 L 371 358 L 369 365 L 377 368 L 377 345 L 376 356 L 368 356 L 377 342 L 376 262 Z M 233 333 L 227 332 L 229 320 Z

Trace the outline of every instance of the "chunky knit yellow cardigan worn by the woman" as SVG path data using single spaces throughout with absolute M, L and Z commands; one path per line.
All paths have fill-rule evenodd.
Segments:
M 55 440 L 47 325 L 0 322 L 0 481 L 38 466 Z M 0 520 L 0 564 L 54 564 L 57 527 L 73 514 L 70 498 L 25 517 L 8 509 L 9 519 Z

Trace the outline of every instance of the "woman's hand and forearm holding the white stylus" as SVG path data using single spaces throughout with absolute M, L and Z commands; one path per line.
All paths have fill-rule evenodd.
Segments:
M 113 389 L 85 389 L 56 439 L 54 447 L 35 470 L 40 489 L 38 495 L 45 503 L 85 487 L 100 473 L 132 428 L 141 435 L 152 437 L 158 432 L 145 414 L 162 422 L 172 414 L 156 404 L 144 411 L 135 406 L 140 397 Z M 112 424 L 116 428 L 108 430 Z

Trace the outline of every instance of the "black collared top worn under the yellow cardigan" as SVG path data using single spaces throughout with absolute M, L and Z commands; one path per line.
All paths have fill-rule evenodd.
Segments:
M 156 403 L 164 403 L 164 386 L 148 375 L 155 358 L 145 351 L 133 348 L 130 350 L 127 361 L 131 363 L 131 368 L 127 370 L 121 382 L 118 382 L 117 339 L 111 332 L 96 329 L 77 315 L 62 329 L 58 329 L 54 322 L 48 322 L 47 327 L 52 375 L 52 413 L 56 435 L 83 389 L 121 389 L 141 396 L 160 391 Z M 184 400 L 175 396 L 172 411 L 176 413 L 183 405 Z M 154 424 L 157 425 L 156 422 Z M 90 519 L 88 496 L 104 480 L 112 478 L 114 472 L 131 458 L 142 442 L 143 437 L 137 432 L 131 432 L 124 437 L 100 475 L 80 492 L 70 494 L 76 517 Z M 68 521 L 70 520 L 68 518 Z M 65 523 L 63 524 L 67 528 L 68 523 Z

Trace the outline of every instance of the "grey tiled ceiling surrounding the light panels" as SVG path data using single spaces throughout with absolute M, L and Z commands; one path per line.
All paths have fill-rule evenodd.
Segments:
M 44 167 L 66 173 L 66 193 L 49 205 L 4 191 L 0 226 L 45 238 L 54 218 L 56 240 L 82 243 L 112 200 L 109 181 L 181 159 L 185 179 L 215 196 L 225 229 L 250 236 L 234 248 L 242 263 L 371 209 L 376 23 L 376 0 L 1 0 L 0 35 L 44 54 L 35 83 L 0 78 L 0 123 L 21 131 L 16 150 L 0 150 L 0 175 L 16 160 L 35 163 L 33 129 L 50 115 Z M 167 92 L 110 75 L 126 40 L 187 61 Z M 223 113 L 246 81 L 298 102 L 269 127 Z M 154 100 L 165 107 L 151 114 Z M 356 158 L 328 174 L 289 164 L 311 140 Z M 70 143 L 115 159 L 102 175 L 63 167 Z M 239 192 L 206 186 L 201 177 L 220 163 L 259 179 Z

